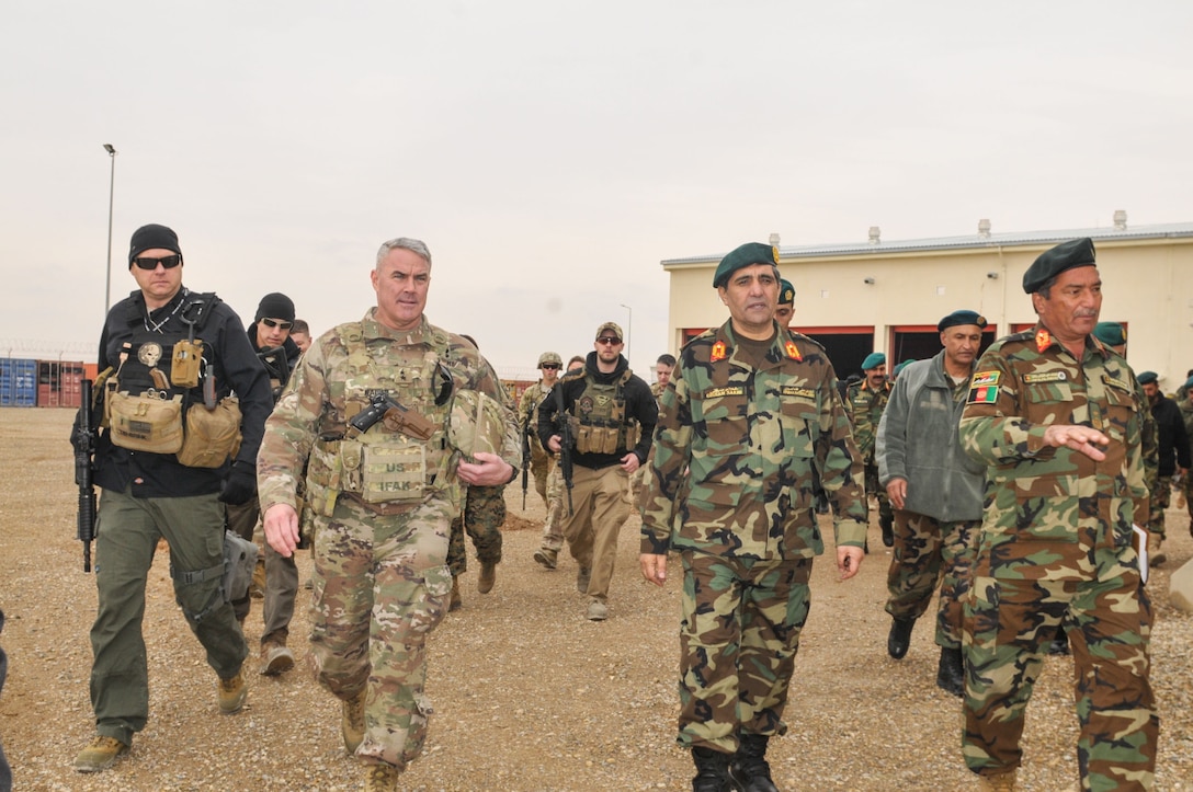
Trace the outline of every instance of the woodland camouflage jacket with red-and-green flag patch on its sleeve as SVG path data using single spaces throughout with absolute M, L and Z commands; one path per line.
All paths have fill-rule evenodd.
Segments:
M 1089 548 L 1123 548 L 1148 524 L 1143 389 L 1127 362 L 1092 336 L 1076 360 L 1043 328 L 996 341 L 973 372 L 960 438 L 987 464 L 983 548 L 1032 578 L 1078 575 Z M 1051 424 L 1105 432 L 1106 460 L 1044 444 Z M 1051 570 L 1050 570 L 1051 569 Z

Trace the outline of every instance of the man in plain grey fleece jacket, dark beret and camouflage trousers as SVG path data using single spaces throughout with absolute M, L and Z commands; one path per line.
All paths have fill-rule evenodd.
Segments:
M 909 366 L 891 389 L 878 424 L 878 478 L 895 507 L 895 553 L 886 573 L 891 630 L 886 651 L 901 660 L 911 628 L 940 586 L 937 685 L 962 696 L 962 601 L 982 524 L 985 466 L 962 451 L 957 425 L 985 319 L 953 311 L 937 325 L 944 349 Z

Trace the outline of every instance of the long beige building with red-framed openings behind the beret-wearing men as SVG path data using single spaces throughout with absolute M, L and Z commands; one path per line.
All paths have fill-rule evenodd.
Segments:
M 1158 373 L 1163 389 L 1175 391 L 1193 369 L 1193 223 L 1129 227 L 1120 211 L 1101 229 L 991 233 L 982 220 L 972 236 L 895 242 L 872 227 L 859 244 L 779 245 L 779 269 L 796 287 L 792 329 L 824 344 L 843 379 L 871 351 L 886 353 L 891 366 L 935 355 L 937 323 L 959 308 L 987 318 L 985 343 L 1034 326 L 1024 272 L 1044 250 L 1077 237 L 1094 239 L 1101 319 L 1127 329 L 1132 368 Z M 673 350 L 728 318 L 712 288 L 724 252 L 662 262 Z

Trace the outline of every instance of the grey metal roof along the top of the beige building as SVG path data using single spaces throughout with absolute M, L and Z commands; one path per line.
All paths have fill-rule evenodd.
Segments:
M 1193 223 L 1168 223 L 1115 229 L 1068 229 L 1064 231 L 1026 231 L 1014 233 L 971 233 L 962 237 L 928 237 L 925 239 L 897 239 L 895 242 L 851 242 L 846 244 L 779 245 L 779 257 L 817 258 L 823 256 L 857 256 L 865 254 L 910 252 L 916 250 L 963 250 L 985 248 L 1009 248 L 1016 245 L 1055 244 L 1067 239 L 1090 237 L 1092 239 L 1156 239 L 1193 237 Z M 729 252 L 728 250 L 725 252 Z M 721 261 L 725 252 L 686 258 L 665 258 L 663 267 L 675 264 L 706 264 Z

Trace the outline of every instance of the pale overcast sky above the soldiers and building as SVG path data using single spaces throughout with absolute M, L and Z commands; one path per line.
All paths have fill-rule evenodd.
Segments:
M 771 232 L 1193 220 L 1187 0 L 6 0 L 2 20 L 0 355 L 94 360 L 104 143 L 112 303 L 129 236 L 162 223 L 188 287 L 246 322 L 283 291 L 317 333 L 412 236 L 431 320 L 507 374 L 632 311 L 650 380 L 659 262 Z

